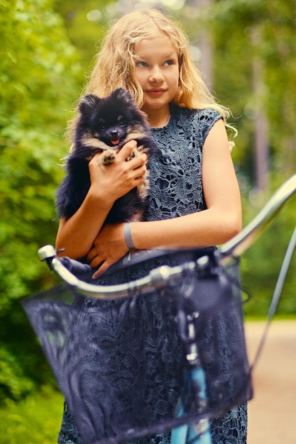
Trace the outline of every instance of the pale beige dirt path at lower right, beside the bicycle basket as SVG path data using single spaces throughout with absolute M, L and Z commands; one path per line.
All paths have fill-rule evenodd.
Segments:
M 265 323 L 246 323 L 250 361 Z M 296 321 L 273 321 L 253 371 L 248 444 L 296 444 Z

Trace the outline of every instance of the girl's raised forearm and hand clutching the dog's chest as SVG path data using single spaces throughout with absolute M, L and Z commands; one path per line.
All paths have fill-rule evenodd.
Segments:
M 91 186 L 80 209 L 68 220 L 62 218 L 57 231 L 56 250 L 79 259 L 87 255 L 102 228 L 114 201 L 143 182 L 146 155 L 126 162 L 136 142 L 128 142 L 108 167 L 101 167 L 95 155 L 89 162 Z

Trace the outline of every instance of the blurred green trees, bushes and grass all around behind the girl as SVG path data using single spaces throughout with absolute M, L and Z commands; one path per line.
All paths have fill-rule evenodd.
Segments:
M 55 243 L 67 121 L 106 29 L 143 7 L 177 19 L 212 93 L 231 109 L 244 225 L 295 173 L 295 0 L 2 0 L 0 443 L 56 441 L 62 396 L 19 299 L 57 283 L 37 250 Z M 243 255 L 247 320 L 267 315 L 295 215 L 292 198 Z M 295 288 L 294 258 L 276 318 L 296 318 Z

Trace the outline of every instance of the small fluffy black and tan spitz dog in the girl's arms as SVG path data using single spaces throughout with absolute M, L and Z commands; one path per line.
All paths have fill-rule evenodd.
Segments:
M 79 111 L 72 150 L 65 165 L 66 176 L 56 196 L 58 216 L 67 219 L 87 195 L 88 164 L 94 154 L 102 152 L 98 162 L 108 168 L 128 140 L 136 140 L 137 148 L 127 160 L 141 152 L 150 156 L 157 149 L 145 114 L 137 109 L 131 94 L 124 89 L 116 89 L 102 99 L 92 94 L 84 96 Z M 147 174 L 140 187 L 115 201 L 105 223 L 141 221 L 146 211 L 148 185 Z

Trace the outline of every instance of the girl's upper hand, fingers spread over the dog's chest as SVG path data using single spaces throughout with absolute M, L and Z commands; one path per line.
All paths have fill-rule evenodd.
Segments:
M 146 173 L 147 155 L 142 154 L 126 162 L 126 158 L 136 147 L 136 140 L 131 140 L 116 155 L 114 162 L 102 166 L 98 160 L 101 153 L 94 155 L 89 162 L 89 176 L 91 189 L 106 200 L 106 204 L 113 205 L 116 199 L 124 196 L 134 187 L 138 187 L 144 180 Z M 107 206 L 107 205 L 106 205 Z

